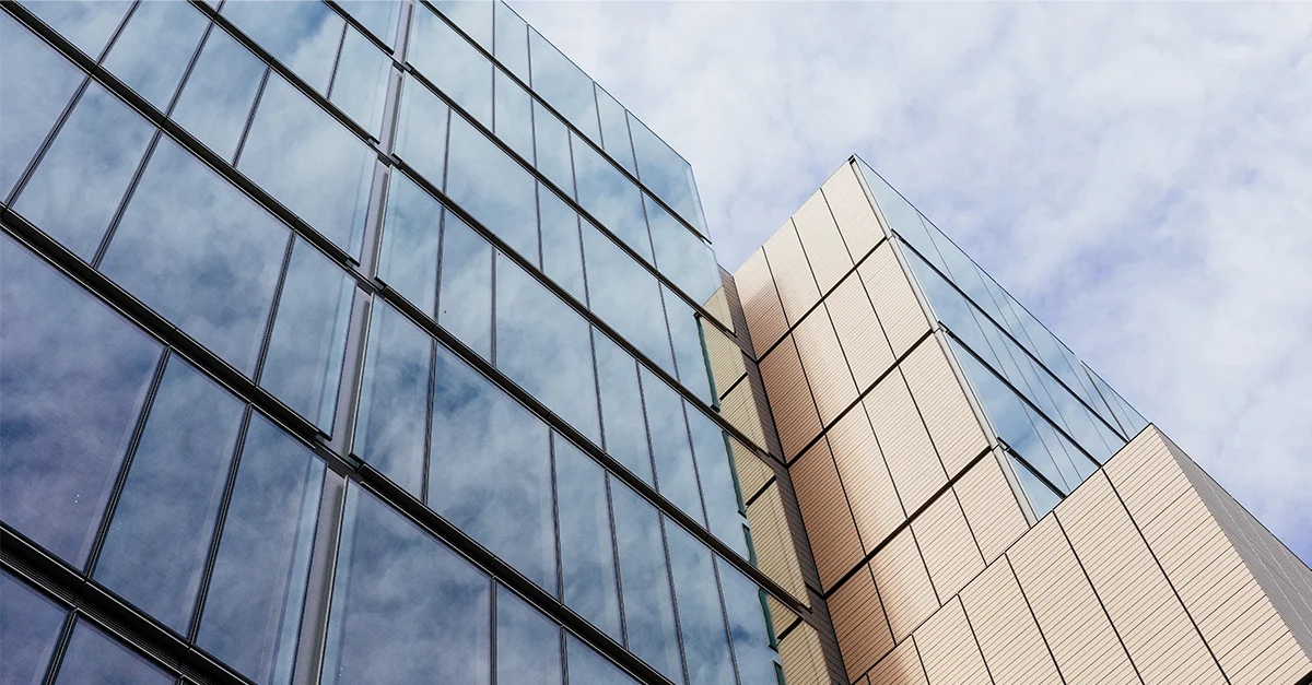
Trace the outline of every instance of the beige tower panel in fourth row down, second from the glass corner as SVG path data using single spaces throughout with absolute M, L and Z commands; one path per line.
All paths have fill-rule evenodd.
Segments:
M 932 501 L 911 528 L 939 597 L 956 594 L 984 570 L 984 558 L 951 489 Z

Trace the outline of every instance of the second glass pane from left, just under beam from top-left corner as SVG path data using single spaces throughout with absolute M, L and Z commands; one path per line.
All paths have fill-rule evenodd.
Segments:
M 41 157 L 14 209 L 91 261 L 154 134 L 155 127 L 140 114 L 92 83 Z M 77 202 L 68 201 L 73 197 Z

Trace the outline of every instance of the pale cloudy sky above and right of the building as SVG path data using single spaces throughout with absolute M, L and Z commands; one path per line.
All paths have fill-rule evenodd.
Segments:
M 1312 4 L 514 7 L 726 268 L 855 152 L 1312 560 Z

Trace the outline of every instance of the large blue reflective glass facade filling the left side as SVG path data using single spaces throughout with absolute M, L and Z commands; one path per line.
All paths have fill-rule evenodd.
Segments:
M 0 38 L 0 680 L 783 682 L 691 169 L 505 4 Z

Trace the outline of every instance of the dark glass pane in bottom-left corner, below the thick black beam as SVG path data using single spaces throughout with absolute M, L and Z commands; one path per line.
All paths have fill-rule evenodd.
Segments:
M 0 571 L 0 644 L 5 652 L 0 682 L 42 682 L 67 613 L 26 583 Z

